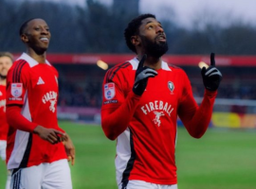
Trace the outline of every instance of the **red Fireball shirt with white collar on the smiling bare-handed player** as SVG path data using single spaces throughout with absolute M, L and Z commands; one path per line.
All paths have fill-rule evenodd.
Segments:
M 30 122 L 62 130 L 57 120 L 58 72 L 48 61 L 38 63 L 24 53 L 13 63 L 7 81 L 7 106 L 20 105 L 22 115 Z M 62 143 L 51 145 L 32 133 L 33 129 L 9 125 L 9 169 L 66 158 Z

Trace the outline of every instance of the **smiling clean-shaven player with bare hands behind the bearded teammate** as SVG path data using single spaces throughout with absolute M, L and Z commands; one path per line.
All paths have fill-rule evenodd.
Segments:
M 49 27 L 42 19 L 30 19 L 20 37 L 27 52 L 14 61 L 7 80 L 11 188 L 71 189 L 66 159 L 74 163 L 75 149 L 58 126 L 58 72 L 46 60 Z

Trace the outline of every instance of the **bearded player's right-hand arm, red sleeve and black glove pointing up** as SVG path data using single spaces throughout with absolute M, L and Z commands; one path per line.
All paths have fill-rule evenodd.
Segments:
M 203 67 L 201 74 L 206 89 L 200 107 L 193 99 L 192 88 L 186 77 L 185 83 L 188 87 L 178 110 L 180 119 L 194 138 L 202 137 L 208 129 L 217 89 L 222 79 L 220 71 L 215 67 L 214 54 L 210 55 L 210 67 Z

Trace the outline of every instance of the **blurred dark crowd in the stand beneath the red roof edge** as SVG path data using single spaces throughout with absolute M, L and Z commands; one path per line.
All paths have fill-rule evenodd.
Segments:
M 88 70 L 87 70 L 88 71 Z M 66 72 L 66 71 L 65 71 Z M 63 74 L 60 77 L 59 106 L 101 108 L 102 80 L 104 73 L 89 70 L 88 73 L 74 71 L 75 76 Z M 203 97 L 204 85 L 201 76 L 197 73 L 188 75 L 192 82 L 194 97 Z M 68 77 L 68 79 L 66 79 Z M 229 77 L 225 75 L 218 90 L 217 98 L 227 99 L 256 99 L 256 84 L 250 77 Z

